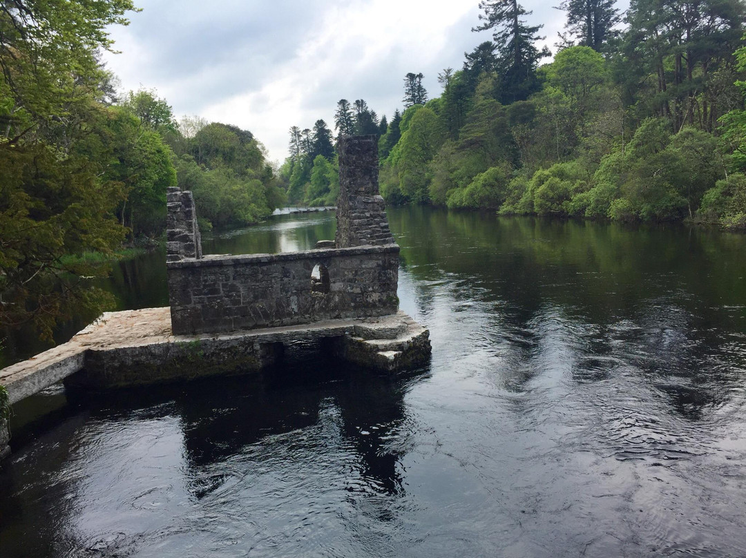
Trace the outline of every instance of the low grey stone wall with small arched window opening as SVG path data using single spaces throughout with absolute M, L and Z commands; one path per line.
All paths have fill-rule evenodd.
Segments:
M 392 244 L 169 262 L 173 333 L 396 313 L 398 256 Z

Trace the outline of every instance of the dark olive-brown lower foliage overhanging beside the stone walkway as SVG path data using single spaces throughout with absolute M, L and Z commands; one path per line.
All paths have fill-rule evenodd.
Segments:
M 101 183 L 85 158 L 43 144 L 0 145 L 0 166 L 10 170 L 0 175 L 0 324 L 33 321 L 51 338 L 57 322 L 111 301 L 87 279 L 105 275 L 105 263 L 64 257 L 121 245 L 113 210 L 122 184 Z

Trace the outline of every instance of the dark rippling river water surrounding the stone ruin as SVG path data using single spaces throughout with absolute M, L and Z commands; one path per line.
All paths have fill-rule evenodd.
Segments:
M 746 556 L 746 236 L 390 210 L 431 363 L 18 405 L 0 556 Z M 205 242 L 308 248 L 330 214 Z M 157 255 L 122 307 L 166 304 Z M 46 416 L 38 418 L 41 410 Z

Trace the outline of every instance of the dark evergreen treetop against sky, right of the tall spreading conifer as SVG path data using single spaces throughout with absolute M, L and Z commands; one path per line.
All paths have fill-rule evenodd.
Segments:
M 567 12 L 565 29 L 580 41 L 600 52 L 619 20 L 616 0 L 562 0 L 558 8 Z

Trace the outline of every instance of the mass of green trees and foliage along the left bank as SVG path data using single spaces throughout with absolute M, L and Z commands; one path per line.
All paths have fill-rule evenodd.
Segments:
M 182 130 L 151 91 L 116 98 L 96 53 L 128 11 L 131 0 L 0 2 L 0 326 L 33 322 L 49 338 L 110 304 L 91 280 L 123 242 L 163 233 L 169 186 L 194 184 L 216 226 L 284 202 L 250 132 L 198 119 Z

